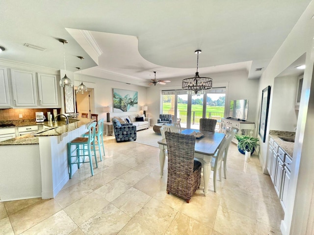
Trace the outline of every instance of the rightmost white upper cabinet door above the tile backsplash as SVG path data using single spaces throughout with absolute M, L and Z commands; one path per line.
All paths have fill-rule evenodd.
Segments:
M 39 105 L 54 107 L 58 106 L 57 76 L 37 73 Z

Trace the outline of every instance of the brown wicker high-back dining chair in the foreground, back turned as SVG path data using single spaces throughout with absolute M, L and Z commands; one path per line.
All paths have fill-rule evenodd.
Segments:
M 165 132 L 168 150 L 167 193 L 177 195 L 189 203 L 200 187 L 202 164 L 194 160 L 195 137 Z

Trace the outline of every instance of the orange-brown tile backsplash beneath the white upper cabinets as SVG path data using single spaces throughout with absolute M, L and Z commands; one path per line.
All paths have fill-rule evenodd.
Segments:
M 61 109 L 56 110 L 59 114 Z M 35 119 L 35 112 L 44 112 L 47 118 L 47 112 L 53 113 L 53 109 L 0 109 L 0 120 Z M 19 118 L 20 114 L 23 118 Z

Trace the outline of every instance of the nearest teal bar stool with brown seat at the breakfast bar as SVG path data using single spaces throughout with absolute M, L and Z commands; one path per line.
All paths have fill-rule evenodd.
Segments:
M 72 165 L 78 164 L 78 168 L 82 163 L 89 163 L 90 171 L 92 176 L 94 175 L 93 170 L 93 162 L 92 156 L 95 157 L 96 167 L 97 158 L 96 158 L 96 150 L 95 150 L 95 135 L 96 135 L 96 122 L 92 122 L 87 127 L 88 129 L 88 137 L 78 137 L 75 138 L 73 141 L 68 142 L 68 164 L 70 168 L 70 179 L 72 178 Z M 75 149 L 72 149 L 72 145 L 75 145 Z M 75 154 L 75 155 L 74 155 Z M 85 162 L 85 157 L 88 157 L 89 162 Z M 72 159 L 75 158 L 74 161 Z

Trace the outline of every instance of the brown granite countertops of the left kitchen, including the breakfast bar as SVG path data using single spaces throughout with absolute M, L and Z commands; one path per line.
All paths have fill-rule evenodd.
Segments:
M 52 122 L 52 121 L 44 121 L 44 122 L 36 122 L 36 121 L 21 121 L 15 123 L 14 121 L 11 121 L 11 123 L 14 123 L 15 126 L 31 126 L 36 124 L 44 124 L 45 126 L 50 126 L 49 129 L 46 130 L 38 130 L 34 133 L 30 133 L 27 135 L 19 136 L 10 140 L 1 141 L 0 145 L 16 145 L 16 144 L 39 144 L 39 137 L 43 136 L 59 136 L 64 133 L 73 131 L 77 129 L 78 127 L 88 124 L 92 121 L 95 121 L 94 119 L 88 119 L 88 118 L 69 118 L 69 125 L 65 125 L 65 121 L 61 118 L 60 121 Z

